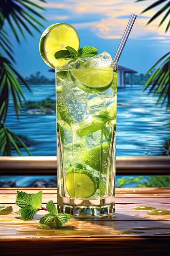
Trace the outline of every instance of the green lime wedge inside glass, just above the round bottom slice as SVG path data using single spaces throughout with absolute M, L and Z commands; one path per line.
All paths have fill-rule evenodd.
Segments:
M 96 171 L 100 171 L 100 162 L 101 162 L 101 171 L 105 173 L 107 171 L 108 166 L 108 155 L 109 155 L 110 145 L 108 143 L 92 148 L 83 156 L 83 162 L 88 164 L 91 168 Z M 102 151 L 102 152 L 101 152 Z M 102 157 L 101 157 L 102 156 Z M 102 159 L 101 159 L 102 158 Z

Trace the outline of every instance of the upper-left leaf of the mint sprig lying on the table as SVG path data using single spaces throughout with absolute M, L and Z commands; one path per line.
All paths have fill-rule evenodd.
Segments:
M 17 191 L 17 198 L 15 204 L 23 208 L 26 205 L 32 204 L 32 198 L 34 194 L 28 194 L 26 192 Z

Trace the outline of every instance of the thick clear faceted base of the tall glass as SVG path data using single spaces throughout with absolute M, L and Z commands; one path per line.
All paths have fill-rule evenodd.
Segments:
M 61 197 L 57 194 L 57 208 L 59 212 L 72 214 L 78 219 L 110 219 L 115 218 L 115 197 L 79 200 Z

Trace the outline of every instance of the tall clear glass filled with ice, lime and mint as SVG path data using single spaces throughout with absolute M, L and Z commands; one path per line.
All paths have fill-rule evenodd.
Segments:
M 79 218 L 115 213 L 117 62 L 58 61 L 57 207 Z

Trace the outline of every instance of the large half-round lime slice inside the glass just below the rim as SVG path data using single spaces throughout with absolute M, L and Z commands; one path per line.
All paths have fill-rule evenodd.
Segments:
M 113 71 L 109 70 L 71 70 L 71 78 L 75 85 L 89 93 L 106 91 L 113 83 Z

